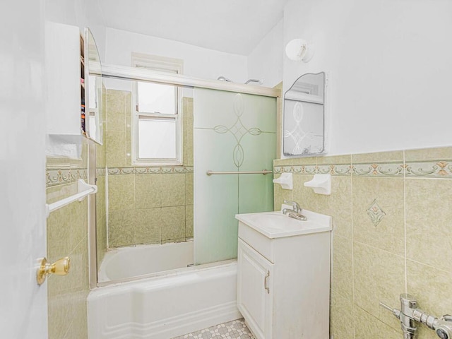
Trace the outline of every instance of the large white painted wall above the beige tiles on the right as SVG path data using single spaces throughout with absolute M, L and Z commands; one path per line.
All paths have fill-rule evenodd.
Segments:
M 316 44 L 308 63 L 284 57 L 284 88 L 330 76 L 330 155 L 452 145 L 452 2 L 291 0 L 284 44 Z

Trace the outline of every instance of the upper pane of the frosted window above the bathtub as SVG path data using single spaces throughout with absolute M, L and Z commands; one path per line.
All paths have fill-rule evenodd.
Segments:
M 138 83 L 138 112 L 177 114 L 177 88 L 158 83 Z

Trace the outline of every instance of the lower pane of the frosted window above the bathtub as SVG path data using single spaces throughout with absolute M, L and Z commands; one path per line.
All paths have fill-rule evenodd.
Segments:
M 138 119 L 140 159 L 174 159 L 176 145 L 175 119 Z

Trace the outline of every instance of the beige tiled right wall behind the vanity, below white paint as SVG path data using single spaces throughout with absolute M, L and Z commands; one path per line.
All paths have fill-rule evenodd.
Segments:
M 398 320 L 379 307 L 384 302 L 400 309 L 400 293 L 414 295 L 420 308 L 436 316 L 452 312 L 452 148 L 274 165 L 275 172 L 294 172 L 293 191 L 275 185 L 275 208 L 293 199 L 333 216 L 334 339 L 403 338 Z M 303 186 L 315 173 L 332 174 L 331 196 Z M 376 224 L 372 208 L 383 215 Z M 433 338 L 434 331 L 420 326 L 418 339 Z

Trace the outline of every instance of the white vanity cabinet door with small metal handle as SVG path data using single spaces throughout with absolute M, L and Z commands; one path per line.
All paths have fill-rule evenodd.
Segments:
M 271 339 L 273 263 L 241 239 L 237 262 L 237 307 L 256 339 Z

